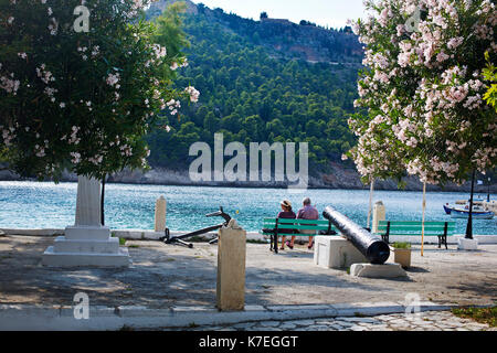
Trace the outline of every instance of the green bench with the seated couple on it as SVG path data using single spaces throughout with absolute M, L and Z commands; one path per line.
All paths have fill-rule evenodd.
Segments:
M 282 233 L 281 229 L 286 232 Z M 316 234 L 302 234 L 298 233 L 298 231 L 316 231 Z M 330 221 L 292 218 L 264 218 L 263 228 L 258 233 L 269 236 L 271 250 L 274 250 L 276 254 L 278 253 L 278 236 L 316 236 L 338 234 L 337 228 Z

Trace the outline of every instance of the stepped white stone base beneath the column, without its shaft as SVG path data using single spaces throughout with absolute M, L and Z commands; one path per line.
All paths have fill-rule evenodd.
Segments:
M 110 237 L 108 227 L 76 226 L 55 238 L 43 253 L 42 265 L 127 267 L 130 258 L 128 249 L 119 247 L 119 238 Z

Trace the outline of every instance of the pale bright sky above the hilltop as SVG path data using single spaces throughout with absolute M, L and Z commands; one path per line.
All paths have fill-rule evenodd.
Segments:
M 242 18 L 258 20 L 261 12 L 272 19 L 307 20 L 329 28 L 342 28 L 348 19 L 363 17 L 362 0 L 193 0 L 207 7 L 221 8 Z

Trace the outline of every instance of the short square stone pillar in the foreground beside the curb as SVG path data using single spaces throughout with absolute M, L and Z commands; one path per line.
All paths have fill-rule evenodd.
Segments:
M 219 231 L 216 307 L 241 311 L 245 307 L 246 232 L 235 220 Z

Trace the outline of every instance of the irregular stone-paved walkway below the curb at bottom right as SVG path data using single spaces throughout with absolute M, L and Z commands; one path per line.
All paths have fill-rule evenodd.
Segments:
M 368 318 L 330 318 L 245 322 L 225 327 L 194 327 L 175 331 L 497 331 L 488 324 L 461 319 L 450 311 L 426 311 Z

